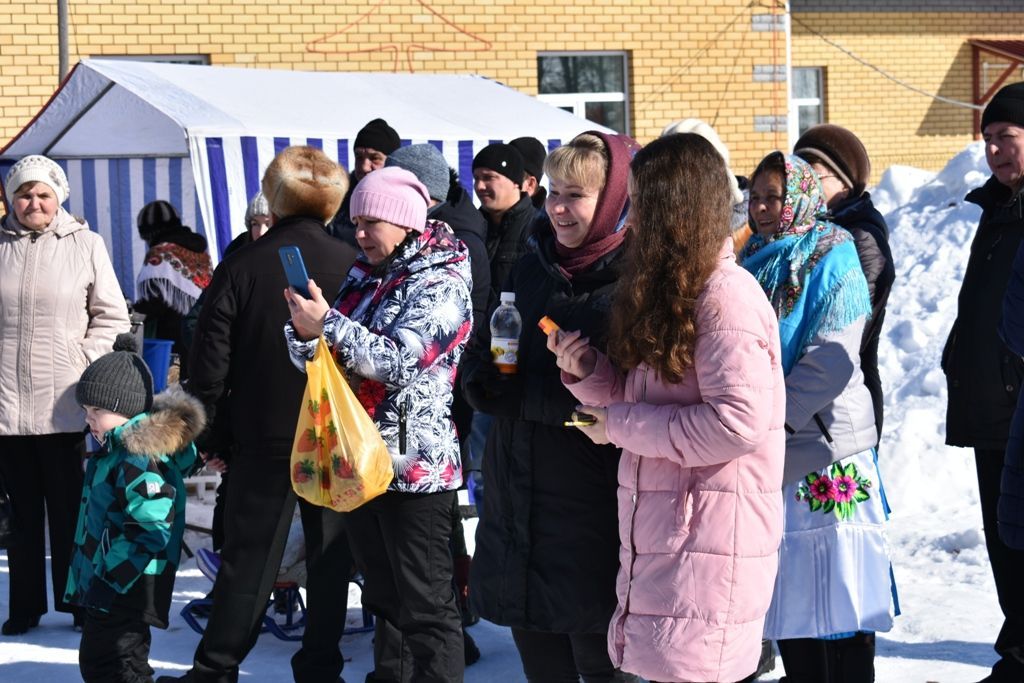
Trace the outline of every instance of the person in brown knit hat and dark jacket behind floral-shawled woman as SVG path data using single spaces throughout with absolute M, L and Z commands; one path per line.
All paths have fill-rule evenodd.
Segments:
M 874 428 L 882 438 L 883 396 L 879 375 L 879 340 L 886 317 L 886 303 L 896 280 L 896 267 L 889 250 L 889 227 L 864 191 L 871 175 L 871 163 L 860 139 L 846 128 L 831 124 L 813 126 L 794 146 L 794 154 L 806 161 L 821 179 L 831 219 L 853 234 L 860 267 L 871 296 L 871 317 L 860 340 L 860 369 L 871 392 Z

